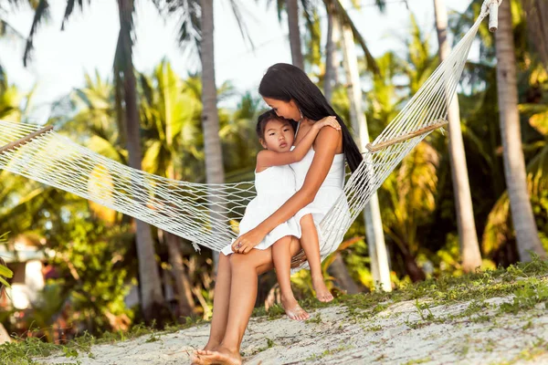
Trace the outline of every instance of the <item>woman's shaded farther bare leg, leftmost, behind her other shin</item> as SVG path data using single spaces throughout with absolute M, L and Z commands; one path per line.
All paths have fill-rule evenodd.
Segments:
M 215 297 L 213 298 L 213 317 L 209 340 L 204 349 L 215 349 L 225 337 L 228 321 L 228 302 L 230 300 L 230 259 L 219 254 L 219 266 L 215 280 Z

